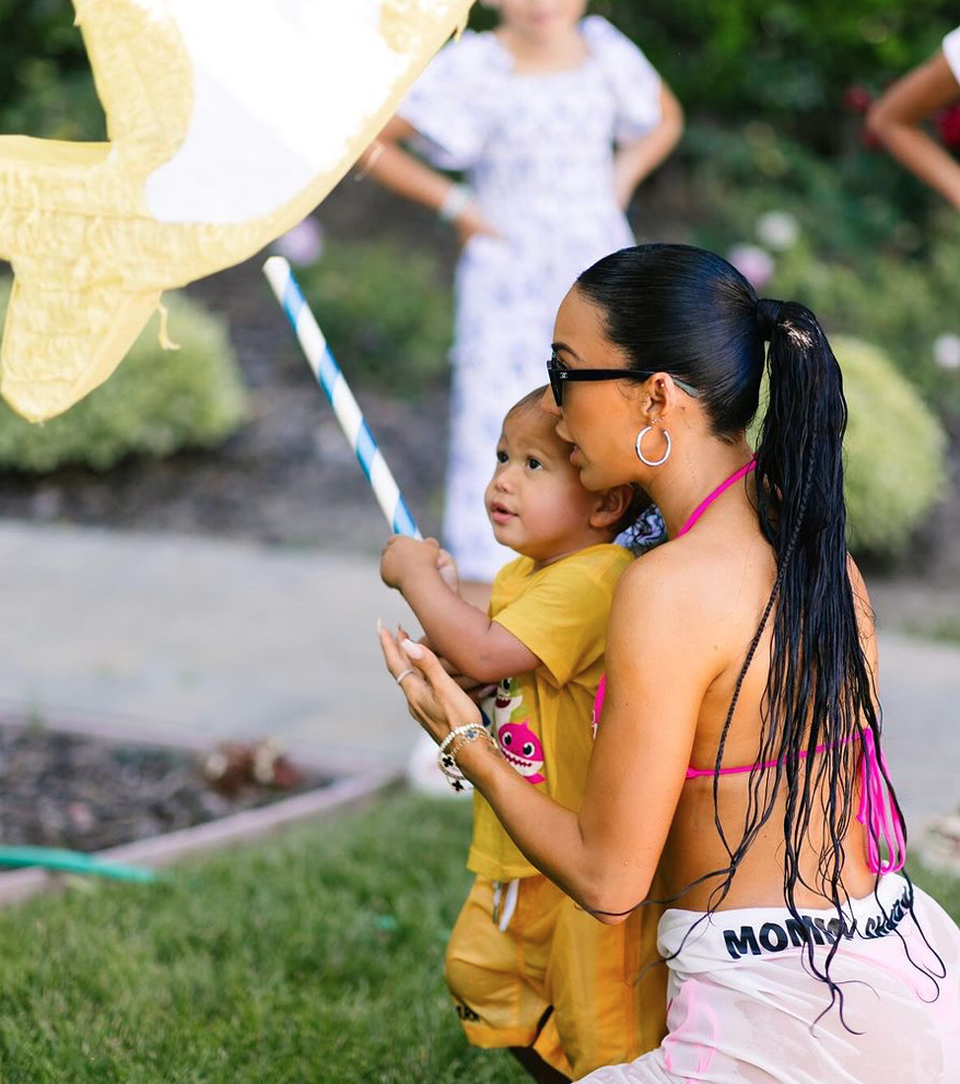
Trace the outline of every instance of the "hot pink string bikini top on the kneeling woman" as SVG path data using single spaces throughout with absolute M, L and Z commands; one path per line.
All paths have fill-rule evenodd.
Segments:
M 686 534 L 717 497 L 726 493 L 731 485 L 739 482 L 741 478 L 746 478 L 756 469 L 757 461 L 751 459 L 750 462 L 731 474 L 725 482 L 722 482 L 694 508 L 690 518 L 677 532 L 677 538 Z M 604 709 L 604 697 L 606 693 L 607 675 L 604 674 L 600 679 L 600 684 L 597 686 L 597 696 L 594 700 L 595 734 L 597 723 L 600 721 L 600 712 Z M 867 826 L 867 862 L 871 873 L 897 873 L 903 869 L 906 861 L 906 839 L 903 820 L 897 812 L 897 808 L 893 805 L 885 785 L 885 776 L 889 778 L 889 771 L 883 750 L 877 747 L 873 730 L 863 728 L 861 734 L 864 751 L 861 759 L 861 803 L 857 811 L 857 821 Z M 850 741 L 851 739 L 846 740 Z M 822 753 L 826 749 L 826 744 L 818 745 L 813 752 Z M 803 750 L 800 757 L 806 758 L 806 756 L 807 751 Z M 773 768 L 776 765 L 776 761 L 764 761 L 762 764 L 742 764 L 736 767 L 721 768 L 718 774 L 722 776 L 740 775 L 745 771 L 753 771 L 756 768 Z M 706 776 L 713 778 L 713 768 L 687 768 L 687 779 L 701 779 Z M 880 858 L 881 839 L 887 848 L 887 859 Z

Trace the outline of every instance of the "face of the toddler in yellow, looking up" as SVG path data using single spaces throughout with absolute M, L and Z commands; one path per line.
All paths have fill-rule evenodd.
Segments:
M 487 514 L 502 545 L 549 561 L 590 544 L 597 494 L 585 490 L 570 461 L 573 446 L 554 432 L 554 419 L 536 404 L 507 414 L 487 486 Z

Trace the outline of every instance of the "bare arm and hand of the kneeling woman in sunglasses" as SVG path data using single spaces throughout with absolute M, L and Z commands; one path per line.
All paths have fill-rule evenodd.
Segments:
M 604 717 L 579 812 L 536 791 L 487 742 L 464 745 L 457 756 L 527 859 L 611 923 L 625 918 L 649 889 L 690 763 L 700 705 L 714 676 L 715 656 L 699 643 L 695 611 L 682 612 L 670 591 L 676 581 L 651 567 L 658 565 L 653 557 L 632 566 L 618 585 Z M 662 620 L 664 613 L 669 621 Z M 430 652 L 411 646 L 405 655 L 385 631 L 381 640 L 393 673 L 417 667 L 418 678 L 405 680 L 403 692 L 414 718 L 435 740 L 478 720 Z

